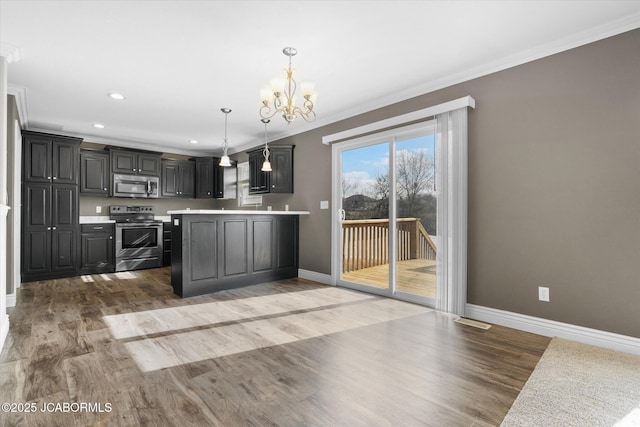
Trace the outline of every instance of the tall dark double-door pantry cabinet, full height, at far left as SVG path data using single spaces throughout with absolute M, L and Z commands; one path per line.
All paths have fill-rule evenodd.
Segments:
M 81 141 L 22 132 L 22 281 L 78 273 Z

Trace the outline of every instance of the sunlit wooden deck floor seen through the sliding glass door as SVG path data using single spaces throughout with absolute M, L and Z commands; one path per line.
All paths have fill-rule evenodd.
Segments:
M 399 261 L 396 274 L 398 291 L 430 298 L 436 297 L 436 261 L 428 259 Z M 342 278 L 350 282 L 387 289 L 389 264 L 342 273 Z

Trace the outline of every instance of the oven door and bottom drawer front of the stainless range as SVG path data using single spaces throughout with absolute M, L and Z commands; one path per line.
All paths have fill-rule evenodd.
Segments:
M 116 271 L 162 267 L 161 223 L 116 223 Z

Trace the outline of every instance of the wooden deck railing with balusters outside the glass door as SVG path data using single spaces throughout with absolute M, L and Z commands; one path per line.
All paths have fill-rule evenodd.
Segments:
M 398 218 L 398 261 L 436 259 L 436 247 L 419 218 Z M 342 221 L 342 272 L 389 263 L 389 220 Z

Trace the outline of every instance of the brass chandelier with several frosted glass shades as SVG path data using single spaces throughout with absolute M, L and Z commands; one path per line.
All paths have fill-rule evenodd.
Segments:
M 289 68 L 286 69 L 287 79 L 273 79 L 271 88 L 265 88 L 260 91 L 262 99 L 262 107 L 260 107 L 260 117 L 270 119 L 278 113 L 282 113 L 282 117 L 287 124 L 291 124 L 298 116 L 308 122 L 316 119 L 316 113 L 313 111 L 313 84 L 302 83 L 301 91 L 304 101 L 302 106 L 295 105 L 296 99 L 296 81 L 293 79 L 293 68 L 291 68 L 291 57 L 298 53 L 295 48 L 285 47 L 282 50 L 289 57 Z

